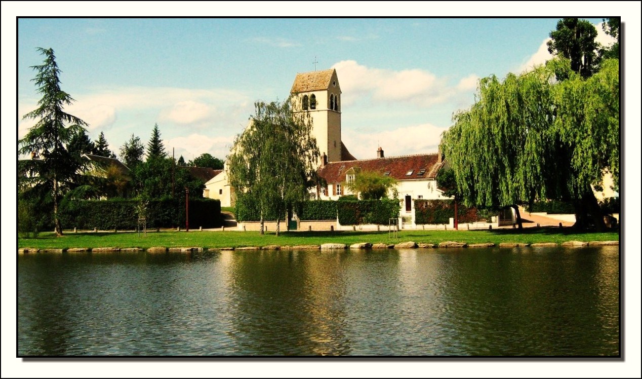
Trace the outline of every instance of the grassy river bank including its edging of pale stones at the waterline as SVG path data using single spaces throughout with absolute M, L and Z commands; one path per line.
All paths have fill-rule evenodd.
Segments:
M 53 233 L 42 233 L 38 238 L 19 238 L 19 252 L 39 251 L 205 251 L 221 249 L 321 249 L 322 245 L 334 243 L 351 245 L 365 243 L 361 248 L 394 247 L 403 242 L 413 242 L 417 247 L 445 247 L 446 242 L 457 242 L 461 247 L 476 246 L 528 246 L 542 243 L 555 245 L 618 243 L 619 231 L 605 233 L 581 232 L 571 228 L 529 228 L 480 230 L 480 231 L 400 231 L 396 235 L 388 231 L 318 231 L 283 232 L 276 236 L 270 232 L 241 231 L 152 231 L 146 236 L 135 232 L 67 232 L 56 237 Z M 455 246 L 455 245 L 453 245 Z M 153 251 L 153 249 L 152 249 Z

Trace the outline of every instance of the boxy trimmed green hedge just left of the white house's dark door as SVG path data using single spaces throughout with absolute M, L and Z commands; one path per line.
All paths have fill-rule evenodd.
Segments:
M 399 200 L 338 201 L 336 208 L 341 225 L 388 225 L 390 218 L 399 216 Z

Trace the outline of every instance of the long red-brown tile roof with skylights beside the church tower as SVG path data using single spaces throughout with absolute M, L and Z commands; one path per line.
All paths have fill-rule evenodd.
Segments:
M 438 162 L 438 154 L 417 154 L 403 155 L 401 157 L 384 157 L 375 159 L 363 159 L 354 161 L 339 161 L 325 164 L 318 168 L 317 173 L 328 183 L 345 182 L 345 174 L 351 168 L 378 172 L 393 177 L 397 181 L 407 181 L 411 179 L 435 178 L 437 171 L 442 164 Z M 406 175 L 413 170 L 411 175 Z M 422 175 L 418 175 L 421 170 L 425 170 Z

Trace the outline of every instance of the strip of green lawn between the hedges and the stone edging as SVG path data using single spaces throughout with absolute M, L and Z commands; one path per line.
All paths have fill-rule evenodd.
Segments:
M 401 231 L 398 238 L 391 238 L 387 231 L 381 232 L 285 232 L 277 237 L 274 233 L 261 236 L 259 232 L 241 231 L 153 231 L 147 236 L 138 236 L 134 232 L 118 233 L 73 233 L 67 232 L 62 237 L 53 233 L 42 233 L 38 238 L 19 238 L 18 247 L 33 247 L 36 249 L 70 249 L 84 247 L 140 247 L 147 249 L 153 246 L 162 247 L 204 247 L 216 249 L 221 247 L 247 246 L 294 246 L 320 245 L 322 243 L 345 243 L 350 245 L 358 242 L 398 243 L 413 241 L 417 243 L 439 243 L 445 241 L 467 243 L 496 243 L 519 242 L 556 242 L 566 241 L 611 241 L 620 240 L 618 231 L 607 233 L 578 232 L 571 228 L 544 229 L 528 228 L 524 231 L 517 229 L 497 229 L 480 231 Z

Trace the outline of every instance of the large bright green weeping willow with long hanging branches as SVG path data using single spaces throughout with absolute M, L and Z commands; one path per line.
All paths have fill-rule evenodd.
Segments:
M 556 82 L 562 70 L 568 79 Z M 585 79 L 563 58 L 480 80 L 476 103 L 456 113 L 442 137 L 464 204 L 517 209 L 572 200 L 578 225 L 591 215 L 603 227 L 591 184 L 606 170 L 619 182 L 618 80 L 617 61 Z

